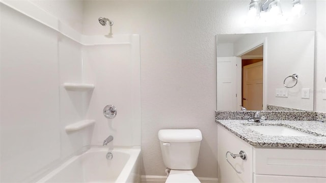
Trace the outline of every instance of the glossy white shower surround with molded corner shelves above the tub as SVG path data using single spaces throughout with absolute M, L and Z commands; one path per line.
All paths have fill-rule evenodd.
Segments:
M 84 36 L 29 1 L 0 2 L 0 33 L 1 182 L 34 182 L 108 135 L 140 147 L 138 35 Z

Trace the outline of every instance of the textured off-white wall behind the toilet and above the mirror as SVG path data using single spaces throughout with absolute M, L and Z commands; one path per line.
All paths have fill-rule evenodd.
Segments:
M 158 130 L 198 128 L 203 141 L 194 172 L 217 176 L 215 35 L 314 30 L 316 4 L 304 3 L 308 14 L 300 20 L 249 27 L 248 1 L 85 1 L 84 34 L 107 34 L 97 21 L 102 16 L 115 22 L 113 34 L 141 36 L 143 175 L 165 175 Z

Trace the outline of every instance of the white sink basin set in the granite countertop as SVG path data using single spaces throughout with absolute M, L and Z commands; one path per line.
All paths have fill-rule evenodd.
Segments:
M 300 132 L 283 126 L 247 126 L 253 131 L 263 135 L 273 136 L 314 136 L 305 132 Z

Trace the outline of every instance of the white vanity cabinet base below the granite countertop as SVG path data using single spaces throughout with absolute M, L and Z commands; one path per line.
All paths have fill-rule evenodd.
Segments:
M 257 148 L 218 127 L 219 182 L 326 182 L 326 150 Z M 247 160 L 228 155 L 243 150 Z

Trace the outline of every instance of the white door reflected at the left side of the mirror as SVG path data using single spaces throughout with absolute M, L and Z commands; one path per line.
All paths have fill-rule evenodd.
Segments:
M 237 82 L 237 68 L 241 68 L 240 57 L 218 57 L 217 68 L 217 107 L 216 110 L 239 110 L 241 83 Z M 241 76 L 240 76 L 241 77 Z M 240 81 L 241 82 L 241 81 Z

